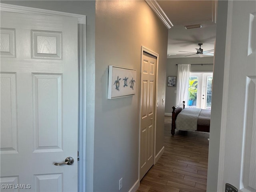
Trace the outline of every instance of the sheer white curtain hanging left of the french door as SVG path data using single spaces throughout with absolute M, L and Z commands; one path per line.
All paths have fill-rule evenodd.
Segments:
M 176 105 L 182 103 L 182 101 L 185 101 L 185 102 L 188 101 L 189 73 L 190 73 L 190 64 L 178 65 Z

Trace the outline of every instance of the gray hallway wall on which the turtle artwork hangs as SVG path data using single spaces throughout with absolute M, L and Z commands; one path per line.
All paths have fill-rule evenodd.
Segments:
M 128 191 L 138 180 L 140 87 L 134 96 L 107 99 L 108 66 L 137 70 L 141 46 L 159 56 L 158 100 L 165 98 L 168 30 L 145 1 L 96 2 L 94 190 Z M 137 84 L 137 85 L 138 85 Z M 163 146 L 164 105 L 157 109 L 156 153 Z

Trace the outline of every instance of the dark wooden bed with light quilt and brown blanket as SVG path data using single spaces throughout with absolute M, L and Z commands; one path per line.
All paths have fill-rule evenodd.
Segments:
M 210 132 L 211 110 L 199 108 L 185 108 L 185 101 L 172 107 L 172 129 L 175 130 L 196 130 Z

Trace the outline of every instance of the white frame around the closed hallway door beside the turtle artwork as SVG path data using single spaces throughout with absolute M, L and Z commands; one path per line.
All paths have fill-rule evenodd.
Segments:
M 139 113 L 141 113 L 141 85 L 142 85 L 142 63 L 143 63 L 143 52 L 146 52 L 150 55 L 153 55 L 156 57 L 156 90 L 155 90 L 155 122 L 154 122 L 154 164 L 156 164 L 156 112 L 157 112 L 157 90 L 158 90 L 158 60 L 159 60 L 159 54 L 146 48 L 145 46 L 141 46 L 141 56 L 140 56 L 140 110 L 139 110 Z M 140 129 L 140 125 L 141 125 L 141 119 L 140 119 L 140 116 L 139 116 L 139 129 Z M 139 131 L 139 167 L 138 167 L 138 181 L 140 181 L 140 138 L 141 135 L 140 135 L 140 131 Z

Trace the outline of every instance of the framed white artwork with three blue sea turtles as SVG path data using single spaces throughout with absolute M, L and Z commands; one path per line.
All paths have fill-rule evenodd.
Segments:
M 108 99 L 136 93 L 136 70 L 110 65 L 108 68 Z

